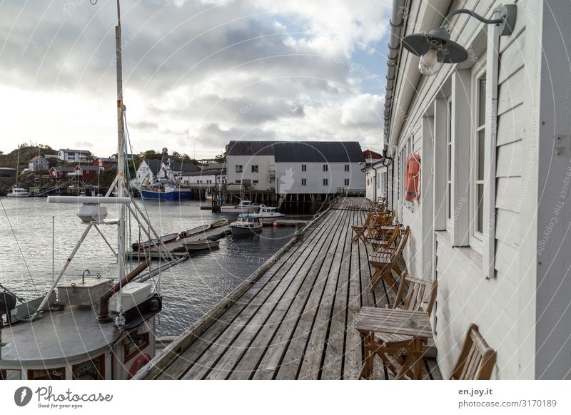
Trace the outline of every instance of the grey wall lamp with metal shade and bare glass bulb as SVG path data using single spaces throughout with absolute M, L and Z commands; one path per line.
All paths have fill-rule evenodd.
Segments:
M 432 29 L 428 34 L 411 34 L 403 39 L 403 46 L 420 56 L 418 71 L 425 76 L 433 76 L 438 72 L 443 63 L 460 63 L 468 59 L 468 51 L 455 41 L 450 40 L 450 34 L 446 25 L 450 18 L 456 14 L 470 14 L 485 24 L 497 24 L 500 26 L 500 36 L 512 34 L 517 16 L 517 6 L 507 4 L 502 6 L 501 16 L 497 19 L 485 19 L 468 9 L 458 9 L 445 17 L 442 26 Z

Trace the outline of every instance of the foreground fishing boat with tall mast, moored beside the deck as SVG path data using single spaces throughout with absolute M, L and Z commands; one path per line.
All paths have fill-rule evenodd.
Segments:
M 102 197 L 49 196 L 48 203 L 79 205 L 78 216 L 85 228 L 45 295 L 25 302 L 0 286 L 4 290 L 0 291 L 0 379 L 131 379 L 156 354 L 155 318 L 161 312 L 162 298 L 156 284 L 145 282 L 145 278 L 156 275 L 156 270 L 146 271 L 148 261 L 144 261 L 127 273 L 125 263 L 127 210 L 149 240 L 159 235 L 133 203 L 123 174 L 126 135 L 118 0 L 117 16 L 118 175 Z M 117 197 L 111 196 L 114 188 Z M 117 219 L 106 220 L 109 204 L 118 207 Z M 116 244 L 98 229 L 102 224 L 116 225 Z M 70 277 L 66 270 L 92 228 L 116 257 L 117 273 L 89 278 L 89 272 L 84 271 L 81 277 Z M 176 263 L 178 260 L 171 260 L 165 265 Z M 161 269 L 166 269 L 165 265 Z

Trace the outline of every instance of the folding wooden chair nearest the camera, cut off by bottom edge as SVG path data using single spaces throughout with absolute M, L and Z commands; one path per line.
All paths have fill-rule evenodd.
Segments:
M 478 332 L 476 324 L 470 324 L 462 352 L 458 357 L 450 380 L 489 380 L 495 365 L 495 351 Z

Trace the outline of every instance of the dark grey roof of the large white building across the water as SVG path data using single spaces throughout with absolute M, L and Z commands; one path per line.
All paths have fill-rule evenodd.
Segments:
M 276 163 L 359 163 L 358 141 L 231 141 L 228 155 L 274 155 Z

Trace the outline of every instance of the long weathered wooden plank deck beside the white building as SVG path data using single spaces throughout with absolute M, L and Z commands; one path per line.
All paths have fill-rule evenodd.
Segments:
M 368 291 L 370 268 L 350 225 L 370 203 L 345 198 L 200 322 L 176 339 L 138 379 L 357 379 L 363 342 L 353 328 L 360 307 L 394 297 Z M 380 362 L 376 379 L 386 379 Z M 440 378 L 433 359 L 426 379 Z

